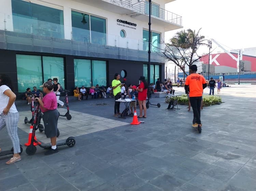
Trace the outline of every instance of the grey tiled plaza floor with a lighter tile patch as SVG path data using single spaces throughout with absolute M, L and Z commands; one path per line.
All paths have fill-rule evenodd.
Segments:
M 204 94 L 209 94 L 208 88 Z M 201 112 L 201 134 L 191 127 L 193 113 L 187 106 L 166 110 L 164 98 L 151 99 L 161 107 L 150 105 L 140 125 L 130 125 L 131 117 L 114 118 L 113 98 L 72 101 L 72 119 L 59 118 L 59 142 L 75 136 L 76 145 L 60 146 L 49 156 L 40 147 L 28 156 L 23 146 L 22 160 L 12 165 L 5 164 L 10 155 L 1 156 L 0 190 L 256 190 L 256 86 L 232 85 L 222 88 L 219 96 L 225 103 Z M 18 134 L 24 144 L 29 125 L 23 120 L 31 113 L 27 105 L 17 105 Z M 49 142 L 43 133 L 36 134 Z M 12 146 L 5 128 L 0 146 Z

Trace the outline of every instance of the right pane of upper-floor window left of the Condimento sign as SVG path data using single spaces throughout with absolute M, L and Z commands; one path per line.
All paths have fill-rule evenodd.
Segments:
M 106 45 L 106 19 L 90 16 L 91 43 Z

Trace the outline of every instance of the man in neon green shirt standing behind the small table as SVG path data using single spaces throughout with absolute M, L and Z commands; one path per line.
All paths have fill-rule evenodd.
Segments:
M 121 84 L 120 82 L 120 74 L 115 73 L 114 80 L 112 81 L 112 89 L 115 96 L 115 106 L 114 106 L 114 117 L 118 117 L 117 115 L 121 115 L 120 113 L 120 102 L 116 102 L 116 100 L 120 99 L 121 96 L 121 87 L 123 87 L 124 84 Z

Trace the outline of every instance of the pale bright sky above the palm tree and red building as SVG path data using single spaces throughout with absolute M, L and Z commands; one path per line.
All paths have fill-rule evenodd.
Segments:
M 256 47 L 256 0 L 176 0 L 166 10 L 182 16 L 183 28 L 165 33 L 168 40 L 181 30 L 200 29 L 205 39 L 215 39 L 225 49 Z M 222 49 L 212 42 L 212 53 Z M 204 47 L 201 53 L 209 52 Z

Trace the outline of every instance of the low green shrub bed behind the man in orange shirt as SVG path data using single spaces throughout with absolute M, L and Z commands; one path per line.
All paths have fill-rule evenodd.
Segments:
M 187 94 L 183 94 L 181 96 L 175 96 L 175 99 L 178 101 L 179 104 L 185 104 L 188 105 L 188 97 Z M 165 98 L 166 103 L 170 103 L 171 100 L 174 100 L 174 97 L 168 97 L 168 95 Z M 221 97 L 216 95 L 203 95 L 203 106 L 210 106 L 222 103 Z

